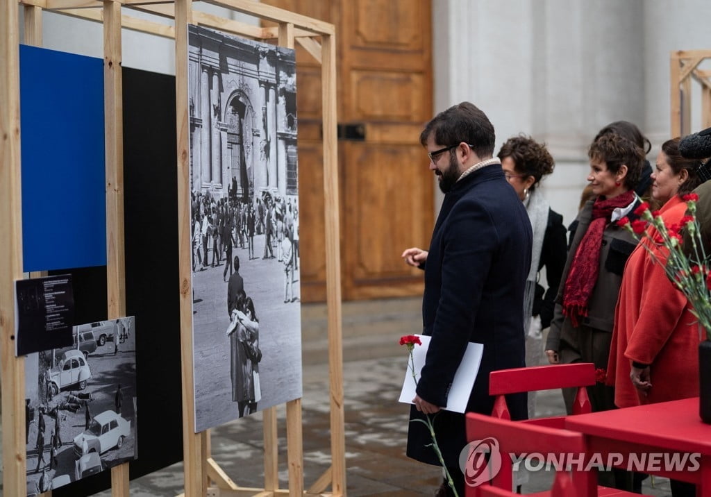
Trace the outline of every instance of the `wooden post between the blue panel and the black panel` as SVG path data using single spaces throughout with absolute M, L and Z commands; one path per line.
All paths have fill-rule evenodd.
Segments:
M 107 311 L 109 319 L 116 319 L 126 315 L 121 4 L 109 0 L 103 9 Z M 112 467 L 111 494 L 128 497 L 128 463 Z

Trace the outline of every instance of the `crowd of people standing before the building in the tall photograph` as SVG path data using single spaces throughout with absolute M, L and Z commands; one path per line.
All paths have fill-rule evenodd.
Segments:
M 294 294 L 295 271 L 299 269 L 299 208 L 295 198 L 237 193 L 232 179 L 226 196 L 201 191 L 191 193 L 193 272 L 222 267 L 223 282 L 236 270 L 233 253 L 247 250 L 248 260 L 271 260 L 283 264 L 284 303 L 298 301 Z M 262 246 L 255 248 L 255 237 Z

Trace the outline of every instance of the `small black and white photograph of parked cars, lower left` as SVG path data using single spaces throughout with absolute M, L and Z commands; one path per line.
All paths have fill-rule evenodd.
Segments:
M 73 337 L 25 361 L 28 495 L 136 458 L 134 316 L 74 326 Z

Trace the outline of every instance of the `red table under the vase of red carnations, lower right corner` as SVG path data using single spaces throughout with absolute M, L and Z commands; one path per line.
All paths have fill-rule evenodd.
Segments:
M 565 428 L 584 434 L 588 454 L 602 454 L 603 461 L 622 454 L 624 462 L 616 466 L 624 469 L 630 454 L 636 460 L 651 453 L 700 454 L 687 459 L 686 470 L 667 471 L 662 459 L 661 469 L 654 461 L 642 471 L 695 483 L 697 496 L 711 496 L 711 424 L 701 422 L 698 397 L 568 416 Z

